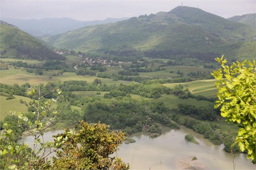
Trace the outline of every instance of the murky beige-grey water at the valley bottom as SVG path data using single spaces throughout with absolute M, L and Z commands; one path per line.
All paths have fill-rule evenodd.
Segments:
M 63 130 L 47 131 L 44 140 Z M 193 135 L 199 145 L 184 139 L 186 134 Z M 214 145 L 203 135 L 181 126 L 181 129 L 163 127 L 162 135 L 150 138 L 147 134 L 131 135 L 135 143 L 123 143 L 115 153 L 131 169 L 197 169 L 197 170 L 233 170 L 233 155 L 223 151 L 223 145 Z M 23 141 L 31 147 L 32 136 L 23 136 Z M 197 160 L 191 158 L 196 156 Z M 235 154 L 235 170 L 255 170 L 255 166 L 246 158 L 246 154 Z

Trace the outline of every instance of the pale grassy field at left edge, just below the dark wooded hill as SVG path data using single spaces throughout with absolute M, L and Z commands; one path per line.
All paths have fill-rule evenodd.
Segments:
M 36 69 L 31 69 L 36 70 Z M 59 70 L 44 71 L 44 74 L 40 76 L 40 81 L 44 81 L 49 78 L 53 73 L 57 73 Z M 35 73 L 26 72 L 26 70 L 14 69 L 9 67 L 9 70 L 0 70 L 0 82 L 3 84 L 25 84 L 28 82 L 31 85 L 38 83 L 38 76 Z

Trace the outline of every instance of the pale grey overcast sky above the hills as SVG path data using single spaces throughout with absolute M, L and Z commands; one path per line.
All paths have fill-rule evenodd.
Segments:
M 102 20 L 199 7 L 224 18 L 256 12 L 256 0 L 0 0 L 0 17 Z

